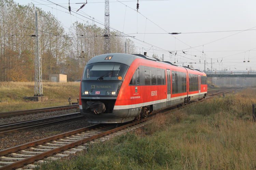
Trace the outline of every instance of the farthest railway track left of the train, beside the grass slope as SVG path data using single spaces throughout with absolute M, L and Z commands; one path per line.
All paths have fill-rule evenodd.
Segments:
M 57 106 L 57 107 L 47 107 L 47 108 L 39 108 L 39 109 L 30 109 L 30 110 L 24 110 L 24 111 L 1 112 L 0 119 L 13 117 L 13 116 L 20 116 L 20 115 L 29 115 L 29 114 L 34 114 L 34 113 L 60 111 L 60 110 L 65 110 L 65 109 L 77 108 L 77 107 L 79 107 L 79 104 Z

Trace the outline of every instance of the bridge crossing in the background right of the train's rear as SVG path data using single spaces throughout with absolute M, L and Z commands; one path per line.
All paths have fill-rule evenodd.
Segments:
M 238 78 L 256 78 L 256 71 L 204 71 L 208 78 L 228 78 L 228 77 L 238 77 Z

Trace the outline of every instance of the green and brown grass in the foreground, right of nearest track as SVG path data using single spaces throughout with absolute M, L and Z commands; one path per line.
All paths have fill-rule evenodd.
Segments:
M 40 169 L 255 169 L 256 88 L 158 116 L 140 131 L 89 145 Z

